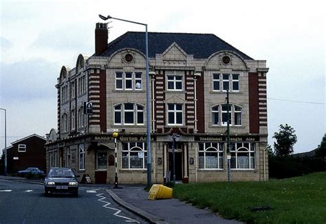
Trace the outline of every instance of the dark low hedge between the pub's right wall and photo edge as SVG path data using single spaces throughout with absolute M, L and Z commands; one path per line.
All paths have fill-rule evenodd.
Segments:
M 294 158 L 292 156 L 270 156 L 270 178 L 284 179 L 303 176 L 313 172 L 325 172 L 326 161 L 322 158 Z

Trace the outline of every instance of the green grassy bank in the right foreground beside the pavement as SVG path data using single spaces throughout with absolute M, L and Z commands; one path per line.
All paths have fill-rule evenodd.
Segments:
M 176 185 L 173 196 L 248 223 L 326 223 L 326 172 L 265 182 Z

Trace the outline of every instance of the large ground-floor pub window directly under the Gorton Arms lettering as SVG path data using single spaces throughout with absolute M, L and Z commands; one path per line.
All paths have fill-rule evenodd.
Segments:
M 146 169 L 145 143 L 122 143 L 122 169 Z

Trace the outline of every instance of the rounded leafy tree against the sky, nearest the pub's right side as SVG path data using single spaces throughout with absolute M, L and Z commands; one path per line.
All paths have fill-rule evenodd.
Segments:
M 279 125 L 279 132 L 275 132 L 273 138 L 275 154 L 278 156 L 287 156 L 293 152 L 293 145 L 296 143 L 296 134 L 294 128 L 290 125 Z

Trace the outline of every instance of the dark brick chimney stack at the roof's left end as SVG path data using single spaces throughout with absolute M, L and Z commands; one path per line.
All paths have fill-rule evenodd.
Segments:
M 98 56 L 107 50 L 107 23 L 96 23 L 95 29 L 95 55 Z

